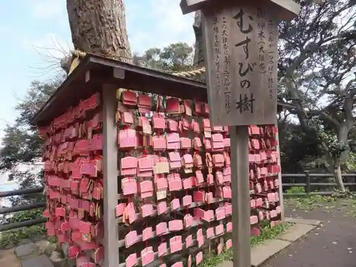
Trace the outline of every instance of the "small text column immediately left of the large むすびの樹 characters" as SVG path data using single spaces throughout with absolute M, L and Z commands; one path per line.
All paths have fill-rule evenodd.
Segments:
M 223 16 L 222 21 L 221 21 L 221 39 L 222 39 L 222 44 L 223 44 L 223 50 L 224 50 L 224 95 L 225 95 L 225 110 L 226 114 L 229 114 L 231 112 L 231 80 L 230 80 L 230 63 L 231 63 L 231 58 L 229 54 L 229 43 L 228 43 L 228 38 L 229 38 L 229 31 L 226 26 L 226 17 Z

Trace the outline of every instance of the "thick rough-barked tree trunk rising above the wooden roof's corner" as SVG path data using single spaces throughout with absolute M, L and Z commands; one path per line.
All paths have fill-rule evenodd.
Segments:
M 67 0 L 75 49 L 132 62 L 122 0 Z

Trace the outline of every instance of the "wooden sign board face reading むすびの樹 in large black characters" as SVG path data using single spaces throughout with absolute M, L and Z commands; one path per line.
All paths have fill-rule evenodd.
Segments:
M 278 21 L 268 6 L 250 2 L 203 10 L 213 125 L 276 122 Z

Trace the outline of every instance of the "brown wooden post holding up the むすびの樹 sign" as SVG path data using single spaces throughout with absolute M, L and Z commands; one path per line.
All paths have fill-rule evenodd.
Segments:
M 232 240 L 234 266 L 251 266 L 248 126 L 229 127 L 231 139 Z

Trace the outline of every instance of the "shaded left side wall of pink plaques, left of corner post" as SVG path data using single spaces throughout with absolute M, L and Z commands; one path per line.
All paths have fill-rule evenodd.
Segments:
M 76 258 L 77 266 L 96 266 L 104 257 L 100 112 L 100 95 L 96 94 L 39 130 L 46 140 L 43 216 L 48 218 L 47 234 L 69 244 L 68 256 Z

